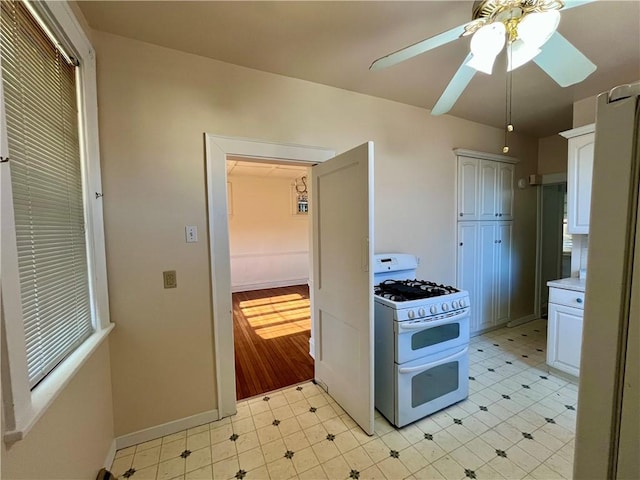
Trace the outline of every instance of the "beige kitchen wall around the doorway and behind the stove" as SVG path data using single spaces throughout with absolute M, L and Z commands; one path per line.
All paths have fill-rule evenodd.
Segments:
M 501 129 L 94 32 L 116 435 L 216 408 L 203 133 L 346 151 L 375 143 L 375 249 L 456 275 L 453 149 L 500 153 Z M 428 81 L 425 80 L 425 81 Z M 537 140 L 514 135 L 516 179 Z M 200 241 L 186 244 L 184 226 Z M 533 313 L 535 189 L 515 191 L 512 315 Z M 178 288 L 162 288 L 175 269 Z M 225 368 L 225 366 L 221 366 Z

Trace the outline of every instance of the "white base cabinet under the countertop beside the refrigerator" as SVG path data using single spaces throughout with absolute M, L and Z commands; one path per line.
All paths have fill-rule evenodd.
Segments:
M 584 292 L 549 289 L 547 364 L 570 375 L 580 373 Z

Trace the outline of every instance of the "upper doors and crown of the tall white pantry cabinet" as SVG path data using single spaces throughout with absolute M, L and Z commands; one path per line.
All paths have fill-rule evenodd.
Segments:
M 469 150 L 455 152 L 458 155 L 458 220 L 512 220 L 517 160 Z

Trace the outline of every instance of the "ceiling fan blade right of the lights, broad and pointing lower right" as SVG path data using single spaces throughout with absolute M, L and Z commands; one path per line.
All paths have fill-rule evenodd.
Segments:
M 551 35 L 533 61 L 561 87 L 583 81 L 597 68 L 558 32 Z

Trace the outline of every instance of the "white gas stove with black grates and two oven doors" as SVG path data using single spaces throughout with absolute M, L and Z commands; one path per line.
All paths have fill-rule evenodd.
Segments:
M 469 294 L 416 280 L 417 258 L 375 256 L 375 405 L 402 427 L 468 396 Z

